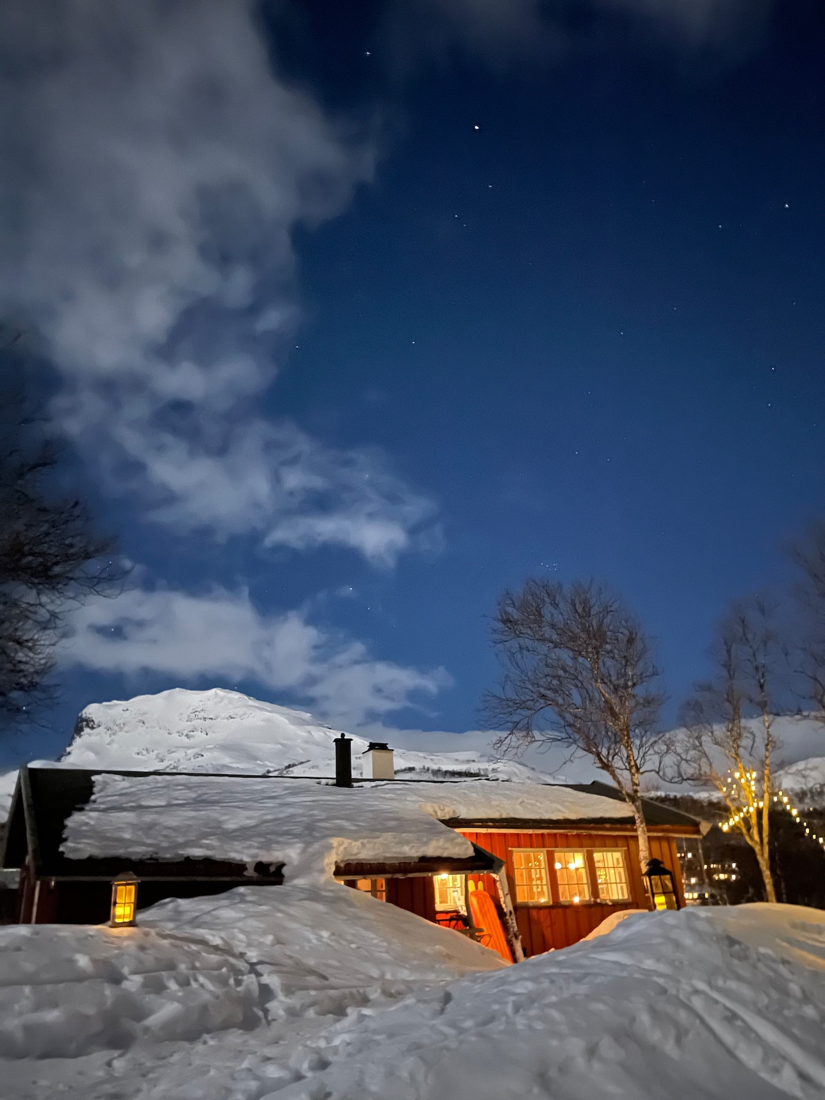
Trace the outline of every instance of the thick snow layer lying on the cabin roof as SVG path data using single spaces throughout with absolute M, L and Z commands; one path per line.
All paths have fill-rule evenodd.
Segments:
M 287 879 L 336 864 L 468 858 L 473 847 L 439 821 L 627 817 L 627 806 L 537 783 L 363 783 L 219 776 L 95 777 L 66 822 L 69 859 L 222 859 L 285 864 Z

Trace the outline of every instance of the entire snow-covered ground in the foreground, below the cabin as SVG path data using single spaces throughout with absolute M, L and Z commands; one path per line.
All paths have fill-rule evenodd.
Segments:
M 366 894 L 285 886 L 0 946 L 9 1100 L 825 1093 L 817 910 L 644 913 L 507 967 Z

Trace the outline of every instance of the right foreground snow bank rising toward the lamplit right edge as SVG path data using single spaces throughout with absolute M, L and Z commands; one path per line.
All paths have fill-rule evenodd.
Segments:
M 823 1034 L 825 913 L 646 913 L 342 1023 L 316 1044 L 324 1068 L 277 1098 L 814 1100 Z

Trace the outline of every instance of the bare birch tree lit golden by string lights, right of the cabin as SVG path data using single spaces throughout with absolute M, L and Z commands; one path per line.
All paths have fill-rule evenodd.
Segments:
M 787 654 L 766 603 L 735 605 L 719 627 L 713 653 L 716 674 L 697 684 L 682 708 L 684 730 L 674 743 L 669 778 L 716 789 L 728 812 L 723 829 L 745 837 L 768 901 L 776 901 L 769 809 L 778 747 L 774 703 Z

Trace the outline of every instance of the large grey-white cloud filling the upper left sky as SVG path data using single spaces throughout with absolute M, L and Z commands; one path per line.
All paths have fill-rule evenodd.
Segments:
M 246 0 L 6 0 L 0 302 L 54 415 L 178 531 L 392 561 L 429 504 L 365 451 L 261 415 L 292 339 L 297 224 L 374 150 L 273 74 Z

